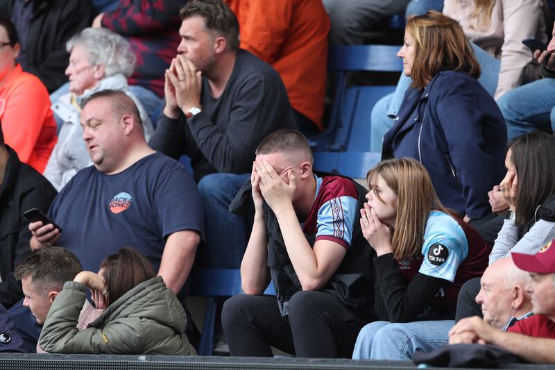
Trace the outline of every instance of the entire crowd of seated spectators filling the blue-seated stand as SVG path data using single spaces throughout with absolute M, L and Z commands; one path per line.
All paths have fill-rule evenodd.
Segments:
M 0 352 L 195 355 L 199 267 L 240 271 L 233 356 L 555 362 L 548 5 L 4 1 Z M 307 137 L 329 45 L 403 12 L 368 191 Z

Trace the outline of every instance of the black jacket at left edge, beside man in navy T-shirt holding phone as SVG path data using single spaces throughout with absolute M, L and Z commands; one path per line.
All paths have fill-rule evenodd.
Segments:
M 10 158 L 0 185 L 0 303 L 9 308 L 23 297 L 13 271 L 31 253 L 31 231 L 23 212 L 38 208 L 46 214 L 57 193 L 44 176 L 6 148 Z

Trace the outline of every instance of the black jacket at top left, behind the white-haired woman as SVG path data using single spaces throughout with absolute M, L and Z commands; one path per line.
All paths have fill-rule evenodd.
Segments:
M 0 1 L 0 14 L 11 17 L 14 1 Z M 65 43 L 83 28 L 91 26 L 95 15 L 90 0 L 33 1 L 24 70 L 40 78 L 49 93 L 67 82 L 64 72 L 69 53 Z

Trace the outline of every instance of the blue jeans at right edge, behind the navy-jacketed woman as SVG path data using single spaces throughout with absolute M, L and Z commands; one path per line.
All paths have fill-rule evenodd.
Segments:
M 554 120 L 549 117 L 555 106 L 555 78 L 517 87 L 503 94 L 497 104 L 505 117 L 509 142 L 536 130 L 555 132 Z

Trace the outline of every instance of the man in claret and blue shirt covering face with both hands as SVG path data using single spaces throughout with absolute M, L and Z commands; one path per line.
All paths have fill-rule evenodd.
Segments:
M 316 176 L 310 146 L 280 130 L 256 151 L 253 232 L 241 263 L 242 287 L 225 302 L 222 326 L 233 356 L 350 357 L 373 319 L 372 249 L 357 220 L 364 187 Z M 238 194 L 239 196 L 239 194 Z M 261 295 L 270 279 L 275 296 Z

